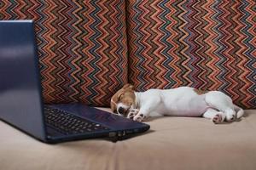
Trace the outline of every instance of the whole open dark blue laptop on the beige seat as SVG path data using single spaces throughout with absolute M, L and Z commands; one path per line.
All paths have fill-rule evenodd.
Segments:
M 44 105 L 32 20 L 0 20 L 0 119 L 45 143 L 125 139 L 149 125 L 79 104 Z

